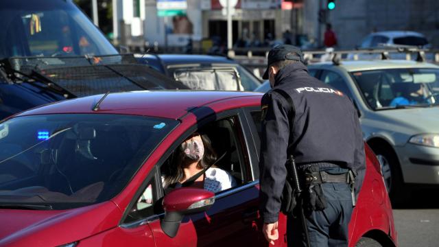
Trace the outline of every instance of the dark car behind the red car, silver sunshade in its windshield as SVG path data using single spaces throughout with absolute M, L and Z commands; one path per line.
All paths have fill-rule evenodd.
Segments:
M 222 56 L 136 54 L 136 58 L 191 89 L 253 91 L 261 84 L 246 67 Z

